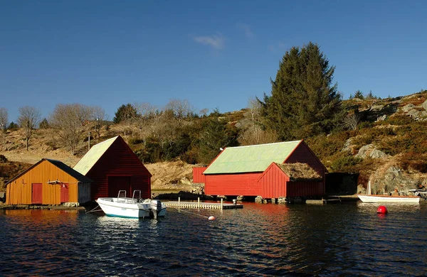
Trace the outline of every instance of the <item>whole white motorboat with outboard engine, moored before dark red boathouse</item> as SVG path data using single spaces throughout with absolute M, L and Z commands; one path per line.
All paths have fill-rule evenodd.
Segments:
M 132 198 L 126 197 L 126 190 L 120 190 L 117 197 L 100 197 L 96 200 L 105 214 L 112 217 L 154 218 L 166 215 L 166 205 L 160 200 L 143 200 L 141 190 L 135 190 Z

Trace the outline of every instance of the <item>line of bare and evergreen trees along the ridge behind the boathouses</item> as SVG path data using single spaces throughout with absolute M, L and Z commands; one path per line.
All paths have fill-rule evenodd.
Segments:
M 208 109 L 195 112 L 187 100 L 171 99 L 163 108 L 146 102 L 122 104 L 112 122 L 122 126 L 122 136 L 144 162 L 181 158 L 188 163 L 209 163 L 221 148 L 307 139 L 357 126 L 357 120 L 351 121 L 342 107 L 342 95 L 333 82 L 334 70 L 319 45 L 310 42 L 286 51 L 275 79 L 270 79 L 270 94 L 249 99 L 244 118 L 243 113 L 221 114 L 218 109 L 210 114 Z M 361 98 L 363 94 L 358 90 L 350 97 Z M 370 92 L 368 97 L 374 95 Z M 18 125 L 27 150 L 39 125 L 58 136 L 53 145 L 60 143 L 74 154 L 88 131 L 100 138 L 101 130 L 108 128 L 106 121 L 101 107 L 57 104 L 43 120 L 36 108 L 19 108 Z M 7 109 L 0 108 L 3 141 L 6 129 L 14 127 L 11 124 L 8 127 Z

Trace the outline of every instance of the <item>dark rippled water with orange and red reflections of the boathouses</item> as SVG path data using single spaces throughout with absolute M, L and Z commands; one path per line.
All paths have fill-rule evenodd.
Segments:
M 427 205 L 386 207 L 384 215 L 364 203 L 244 203 L 222 212 L 169 208 L 158 221 L 4 210 L 0 275 L 426 275 Z

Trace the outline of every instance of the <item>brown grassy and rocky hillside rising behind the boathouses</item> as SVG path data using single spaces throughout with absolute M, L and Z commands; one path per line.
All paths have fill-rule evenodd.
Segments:
M 368 180 L 373 183 L 374 191 L 379 193 L 393 191 L 394 188 L 408 190 L 427 185 L 427 91 L 388 99 L 354 98 L 343 101 L 342 106 L 347 111 L 342 126 L 337 126 L 332 134 L 305 139 L 331 173 L 358 173 L 359 191 L 366 188 Z M 238 134 L 241 145 L 253 143 L 246 136 L 248 131 L 255 129 L 250 110 L 242 109 L 217 116 L 218 121 L 224 121 L 229 129 Z M 201 122 L 206 122 L 209 118 L 188 121 L 167 119 L 169 121 L 165 121 L 166 123 L 154 121 L 153 125 L 146 125 L 144 129 L 137 123 L 111 124 L 102 128 L 100 137 L 91 131 L 90 145 L 120 135 L 143 161 L 150 161 L 156 155 L 159 157 L 159 153 L 154 154 L 159 151 L 159 143 L 162 143 L 162 149 L 169 151 L 167 155 L 174 156 L 169 158 L 169 162 L 144 163 L 153 175 L 152 189 L 190 190 L 191 168 L 194 165 L 184 161 L 196 161 L 203 149 L 197 146 L 186 153 L 174 153 L 174 149 L 181 151 L 181 147 L 184 147 L 182 145 L 189 143 L 187 141 L 194 141 L 193 136 L 201 132 Z M 184 130 L 179 136 L 174 134 L 176 129 L 170 127 L 176 128 L 177 124 Z M 195 126 L 194 129 L 191 129 L 192 126 Z M 158 135 L 156 141 L 149 141 L 149 136 L 144 133 L 161 134 L 161 131 L 167 136 L 164 141 L 162 135 Z M 259 141 L 268 143 L 275 139 L 274 136 L 269 137 L 263 133 Z M 214 151 L 218 151 L 217 148 L 219 147 L 215 146 Z M 18 129 L 7 131 L 6 143 L 1 148 L 0 155 L 4 155 L 9 161 L 20 163 L 33 164 L 41 158 L 53 158 L 73 166 L 86 151 L 87 137 L 80 141 L 73 155 L 60 143 L 59 136 L 53 129 L 35 130 L 26 151 L 22 131 Z M 212 157 L 216 152 L 210 155 Z M 10 174 L 14 175 L 16 172 Z

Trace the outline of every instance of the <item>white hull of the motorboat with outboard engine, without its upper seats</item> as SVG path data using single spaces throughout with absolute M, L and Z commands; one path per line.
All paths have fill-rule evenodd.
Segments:
M 110 217 L 152 217 L 151 201 L 137 202 L 137 200 L 132 198 L 101 197 L 96 202 L 100 205 L 102 211 Z M 166 205 L 162 203 L 162 207 L 164 209 L 157 214 L 157 217 L 164 217 L 166 215 Z

